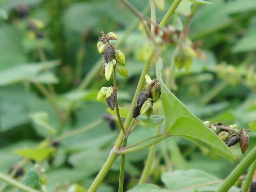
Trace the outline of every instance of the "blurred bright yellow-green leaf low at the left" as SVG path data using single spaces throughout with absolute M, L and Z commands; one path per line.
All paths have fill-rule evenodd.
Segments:
M 54 151 L 55 148 L 26 148 L 15 150 L 13 153 L 26 159 L 33 159 L 40 163 Z

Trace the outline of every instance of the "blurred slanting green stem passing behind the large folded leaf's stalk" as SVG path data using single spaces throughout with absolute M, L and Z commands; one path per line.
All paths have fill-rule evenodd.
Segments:
M 158 124 L 157 127 L 156 127 L 154 135 L 158 135 L 160 133 L 160 130 L 161 130 L 161 124 Z M 150 147 L 146 164 L 145 164 L 144 169 L 142 171 L 142 174 L 140 176 L 139 184 L 146 182 L 146 180 L 148 178 L 148 175 L 149 175 L 149 171 L 150 171 L 152 162 L 153 162 L 154 157 L 155 157 L 155 154 L 156 154 L 156 145 L 153 145 L 152 147 Z

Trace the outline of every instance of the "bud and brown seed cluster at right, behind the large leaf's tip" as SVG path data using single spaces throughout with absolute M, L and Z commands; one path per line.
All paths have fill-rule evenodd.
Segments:
M 244 129 L 238 129 L 236 124 L 227 127 L 222 126 L 222 123 L 211 124 L 209 121 L 205 121 L 204 124 L 211 129 L 212 132 L 216 133 L 228 147 L 236 145 L 239 141 L 242 153 L 245 153 L 247 150 L 250 142 L 247 132 L 250 130 L 245 131 Z M 218 132 L 216 132 L 217 128 L 219 128 Z

